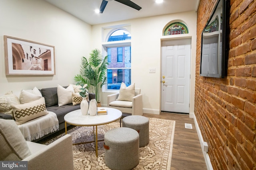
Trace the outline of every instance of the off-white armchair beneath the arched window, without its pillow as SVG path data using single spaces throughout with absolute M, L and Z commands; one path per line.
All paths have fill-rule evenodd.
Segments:
M 115 108 L 122 113 L 132 113 L 132 115 L 143 115 L 143 103 L 142 94 L 140 94 L 140 88 L 135 88 L 135 96 L 130 101 L 116 100 L 119 93 L 110 94 L 107 98 L 107 107 Z

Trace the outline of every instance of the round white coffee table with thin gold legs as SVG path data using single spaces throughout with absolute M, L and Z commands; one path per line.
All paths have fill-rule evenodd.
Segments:
M 112 123 L 122 117 L 122 112 L 118 109 L 114 109 L 110 107 L 100 107 L 100 108 L 107 109 L 108 114 L 96 115 L 96 116 L 82 115 L 81 110 L 78 109 L 78 110 L 71 111 L 64 116 L 66 134 L 67 134 L 67 123 L 75 126 L 93 126 L 93 129 L 94 129 L 94 126 L 96 127 L 96 129 L 94 130 L 95 141 L 82 142 L 82 143 L 95 142 L 96 157 L 98 157 L 97 126 Z M 82 143 L 74 143 L 73 145 L 82 144 Z

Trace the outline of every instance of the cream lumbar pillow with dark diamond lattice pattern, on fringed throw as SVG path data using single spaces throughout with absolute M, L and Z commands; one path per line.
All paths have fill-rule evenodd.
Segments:
M 11 105 L 17 124 L 22 124 L 48 114 L 44 98 L 26 104 Z

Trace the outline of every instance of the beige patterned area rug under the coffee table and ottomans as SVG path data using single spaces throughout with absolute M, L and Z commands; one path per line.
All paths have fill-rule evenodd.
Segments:
M 104 134 L 115 127 L 120 127 L 119 120 L 107 125 L 98 126 L 98 140 L 104 139 Z M 172 161 L 175 121 L 149 118 L 149 144 L 140 147 L 140 161 L 134 170 L 169 170 Z M 93 127 L 74 127 L 68 131 L 73 143 L 93 141 Z M 65 134 L 50 139 L 48 145 Z M 98 158 L 95 145 L 85 143 L 73 145 L 75 170 L 110 170 L 104 162 L 104 141 L 98 142 Z

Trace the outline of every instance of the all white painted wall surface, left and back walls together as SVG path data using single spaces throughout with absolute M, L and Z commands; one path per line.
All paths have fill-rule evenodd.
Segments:
M 102 49 L 102 39 L 106 38 L 103 28 L 126 25 L 132 35 L 132 82 L 142 89 L 144 113 L 160 112 L 161 41 L 184 36 L 192 39 L 190 113 L 194 112 L 196 12 L 91 26 L 43 0 L 0 0 L 0 4 L 0 95 L 9 90 L 19 94 L 20 90 L 34 86 L 46 88 L 73 83 L 81 57 L 88 57 L 91 49 Z M 183 20 L 189 33 L 162 36 L 163 29 L 174 20 Z M 4 35 L 54 45 L 56 75 L 6 76 Z M 156 73 L 149 73 L 149 68 L 156 68 Z M 106 106 L 108 94 L 102 94 L 102 106 Z

